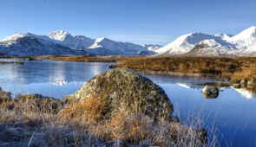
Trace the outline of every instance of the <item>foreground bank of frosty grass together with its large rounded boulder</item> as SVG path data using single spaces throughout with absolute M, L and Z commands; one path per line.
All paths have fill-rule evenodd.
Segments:
M 204 146 L 207 131 L 182 125 L 164 90 L 126 68 L 99 74 L 65 99 L 0 92 L 0 145 Z

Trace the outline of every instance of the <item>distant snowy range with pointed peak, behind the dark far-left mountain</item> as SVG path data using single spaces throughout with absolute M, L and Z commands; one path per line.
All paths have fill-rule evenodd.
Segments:
M 137 45 L 129 42 L 115 42 L 108 38 L 90 39 L 83 35 L 72 36 L 68 32 L 56 30 L 49 35 L 50 39 L 62 42 L 69 48 L 82 48 L 89 54 L 98 55 L 151 55 L 158 45 Z M 143 53 L 141 53 L 143 52 Z

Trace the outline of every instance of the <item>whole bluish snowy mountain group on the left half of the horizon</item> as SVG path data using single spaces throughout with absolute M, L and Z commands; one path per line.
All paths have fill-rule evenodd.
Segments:
M 161 46 L 73 36 L 62 30 L 56 30 L 49 35 L 15 34 L 0 42 L 0 53 L 7 55 L 153 55 L 158 48 Z

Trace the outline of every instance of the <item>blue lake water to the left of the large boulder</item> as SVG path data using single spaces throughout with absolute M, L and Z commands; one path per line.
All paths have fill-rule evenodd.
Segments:
M 24 61 L 22 66 L 1 64 L 0 86 L 14 95 L 41 93 L 45 96 L 63 98 L 75 93 L 85 81 L 96 74 L 107 71 L 108 66 L 112 64 L 47 60 Z

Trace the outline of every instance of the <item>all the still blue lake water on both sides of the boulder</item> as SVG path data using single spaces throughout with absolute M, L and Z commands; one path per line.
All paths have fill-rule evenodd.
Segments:
M 14 61 L 1 59 L 1 61 Z M 82 84 L 108 70 L 113 63 L 24 61 L 23 65 L 0 64 L 0 86 L 14 95 L 40 93 L 62 99 Z M 256 95 L 246 90 L 222 88 L 216 99 L 206 99 L 196 84 L 212 79 L 145 75 L 161 86 L 182 121 L 200 112 L 204 127 L 218 136 L 221 146 L 256 146 Z

